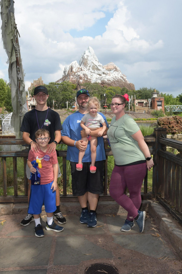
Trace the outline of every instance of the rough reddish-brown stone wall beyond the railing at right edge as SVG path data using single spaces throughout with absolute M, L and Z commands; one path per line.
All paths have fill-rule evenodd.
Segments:
M 160 128 L 167 128 L 167 134 L 182 133 L 182 117 L 180 116 L 159 117 L 157 124 Z

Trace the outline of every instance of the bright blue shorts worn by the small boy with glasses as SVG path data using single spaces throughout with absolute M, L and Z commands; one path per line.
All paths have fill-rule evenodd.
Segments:
M 38 215 L 44 204 L 47 213 L 56 210 L 56 192 L 51 189 L 52 183 L 31 185 L 28 213 Z

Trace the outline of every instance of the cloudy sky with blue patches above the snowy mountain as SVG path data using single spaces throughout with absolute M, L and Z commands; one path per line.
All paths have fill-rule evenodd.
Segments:
M 26 90 L 40 76 L 60 79 L 91 46 L 135 89 L 182 93 L 181 0 L 15 0 L 14 8 Z M 0 78 L 9 82 L 2 41 L 0 52 Z

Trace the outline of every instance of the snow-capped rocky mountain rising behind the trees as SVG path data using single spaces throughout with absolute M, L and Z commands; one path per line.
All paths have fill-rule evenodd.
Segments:
M 94 50 L 88 47 L 82 54 L 79 64 L 74 61 L 66 66 L 63 76 L 57 82 L 70 81 L 77 85 L 77 89 L 83 88 L 83 83 L 98 82 L 102 86 L 119 86 L 129 90 L 135 90 L 135 86 L 129 83 L 125 74 L 114 64 L 102 65 L 99 63 Z

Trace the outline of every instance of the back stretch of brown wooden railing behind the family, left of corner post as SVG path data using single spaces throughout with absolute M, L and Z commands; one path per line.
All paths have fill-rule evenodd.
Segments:
M 151 154 L 155 154 L 154 151 L 154 144 L 155 144 L 155 138 L 154 137 L 146 137 L 145 138 L 149 150 Z M 22 140 L 22 139 L 0 139 L 0 146 L 1 145 L 23 145 L 27 147 L 28 145 Z M 62 143 L 61 143 L 62 144 Z M 108 147 L 108 141 L 107 139 L 104 139 L 104 146 L 105 146 L 105 152 L 106 152 L 106 161 L 104 164 L 104 194 L 100 196 L 102 199 L 110 199 L 113 200 L 109 194 L 107 193 L 107 161 L 108 161 L 108 156 L 112 156 L 112 151 L 111 148 Z M 67 151 L 66 150 L 59 150 L 57 151 L 57 156 L 63 158 L 63 194 L 61 195 L 61 200 L 63 199 L 73 199 L 73 195 L 67 195 L 67 173 L 66 173 L 66 155 Z M 7 157 L 13 157 L 13 172 L 14 172 L 14 196 L 7 196 L 7 174 L 6 174 L 6 158 Z M 18 157 L 23 157 L 24 159 L 24 196 L 18 196 L 17 192 L 17 168 L 16 168 L 16 159 Z M 28 158 L 28 149 L 22 150 L 22 151 L 0 151 L 0 158 L 2 158 L 2 169 L 3 169 L 3 197 L 0 197 L 0 203 L 3 202 L 25 202 L 27 201 L 27 194 L 28 194 L 28 180 L 26 178 L 26 159 Z M 144 179 L 144 193 L 142 193 L 142 199 L 150 199 L 154 197 L 154 194 L 148 193 L 147 191 L 147 174 Z

